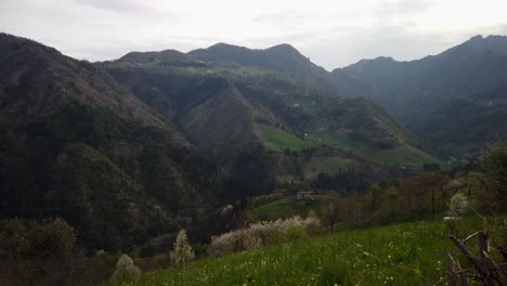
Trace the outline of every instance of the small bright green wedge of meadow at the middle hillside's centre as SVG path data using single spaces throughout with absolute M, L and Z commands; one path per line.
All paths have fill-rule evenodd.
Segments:
M 256 125 L 256 133 L 265 147 L 271 151 L 292 150 L 300 151 L 307 147 L 303 140 L 277 128 L 268 125 Z

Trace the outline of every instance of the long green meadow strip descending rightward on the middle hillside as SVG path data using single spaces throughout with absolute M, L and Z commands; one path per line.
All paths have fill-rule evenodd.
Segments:
M 412 165 L 420 167 L 422 164 L 445 165 L 442 160 L 410 145 L 401 145 L 394 148 L 377 148 L 363 142 L 354 141 L 327 131 L 310 134 L 313 140 L 327 143 L 333 146 L 354 151 L 378 162 L 394 165 Z

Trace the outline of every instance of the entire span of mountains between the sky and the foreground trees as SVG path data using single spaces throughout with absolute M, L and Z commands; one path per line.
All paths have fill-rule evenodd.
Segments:
M 505 136 L 504 44 L 328 73 L 289 44 L 89 63 L 0 34 L 0 218 L 62 216 L 90 249 L 122 248 L 322 174 L 361 192 L 442 165 L 424 150 Z

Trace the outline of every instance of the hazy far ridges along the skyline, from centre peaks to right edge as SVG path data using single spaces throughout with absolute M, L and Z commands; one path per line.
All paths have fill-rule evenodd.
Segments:
M 168 52 L 136 54 L 142 54 L 143 61 L 157 54 L 157 61 L 167 63 Z M 171 53 L 171 61 L 180 65 L 234 64 L 276 70 L 329 96 L 368 98 L 415 133 L 427 150 L 444 158 L 477 154 L 485 144 L 507 136 L 507 125 L 503 123 L 507 119 L 505 36 L 476 36 L 416 61 L 363 60 L 333 73 L 289 44 L 251 50 L 218 43 L 178 53 L 179 60 L 174 51 Z

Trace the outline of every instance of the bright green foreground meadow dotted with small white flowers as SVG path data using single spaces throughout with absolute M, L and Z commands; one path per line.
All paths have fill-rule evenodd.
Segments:
M 461 235 L 481 227 L 479 219 L 454 223 Z M 194 261 L 122 285 L 445 285 L 447 253 L 456 252 L 447 234 L 443 222 L 347 231 Z

